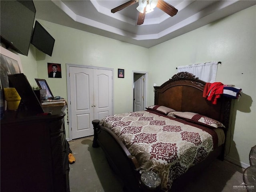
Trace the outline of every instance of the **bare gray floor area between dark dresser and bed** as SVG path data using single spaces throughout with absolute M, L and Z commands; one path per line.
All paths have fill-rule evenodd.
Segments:
M 101 148 L 92 148 L 93 136 L 69 142 L 76 162 L 70 164 L 70 192 L 122 192 Z

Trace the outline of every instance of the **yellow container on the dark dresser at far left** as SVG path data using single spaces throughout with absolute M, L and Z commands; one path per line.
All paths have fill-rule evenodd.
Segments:
M 4 97 L 8 110 L 17 110 L 20 104 L 20 95 L 15 88 L 4 88 Z

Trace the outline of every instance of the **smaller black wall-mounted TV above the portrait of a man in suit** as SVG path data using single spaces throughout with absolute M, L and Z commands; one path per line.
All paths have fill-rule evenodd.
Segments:
M 36 21 L 32 34 L 31 44 L 45 54 L 52 56 L 54 42 L 55 39 L 45 30 L 45 28 L 38 21 Z

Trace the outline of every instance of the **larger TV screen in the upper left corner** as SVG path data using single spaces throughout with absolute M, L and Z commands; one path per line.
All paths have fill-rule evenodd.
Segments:
M 1 43 L 28 56 L 36 8 L 33 1 L 0 1 Z

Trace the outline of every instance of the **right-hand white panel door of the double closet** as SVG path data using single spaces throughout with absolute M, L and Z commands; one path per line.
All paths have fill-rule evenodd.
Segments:
M 94 69 L 94 119 L 112 115 L 112 70 Z

